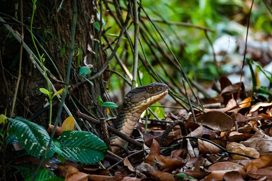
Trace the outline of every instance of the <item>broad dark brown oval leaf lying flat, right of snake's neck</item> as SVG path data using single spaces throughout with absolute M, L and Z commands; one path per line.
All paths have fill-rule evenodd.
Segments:
M 233 120 L 226 113 L 210 111 L 196 117 L 197 124 L 205 125 L 216 131 L 226 131 L 233 127 Z

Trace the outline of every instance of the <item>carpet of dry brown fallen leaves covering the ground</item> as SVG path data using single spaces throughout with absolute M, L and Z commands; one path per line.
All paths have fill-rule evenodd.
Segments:
M 255 99 L 253 105 L 252 97 L 240 95 L 243 100 L 237 104 L 239 85 L 221 85 L 225 107 L 204 109 L 206 113 L 194 110 L 196 123 L 191 114 L 184 115 L 185 110 L 182 114 L 169 111 L 162 120 L 150 119 L 147 128 L 144 120 L 138 122 L 131 137 L 143 149 L 128 143 L 126 152 L 117 152 L 118 158 L 108 155 L 100 164 L 81 165 L 65 159 L 64 164 L 43 165 L 67 181 L 271 180 L 272 103 Z M 177 120 L 185 128 L 176 124 L 169 131 Z M 68 120 L 65 125 L 58 127 L 60 132 L 74 126 Z

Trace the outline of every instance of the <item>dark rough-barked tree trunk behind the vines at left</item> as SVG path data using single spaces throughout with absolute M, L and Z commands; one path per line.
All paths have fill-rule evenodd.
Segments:
M 21 21 L 20 1 L 18 3 L 18 11 L 16 10 L 16 3 L 18 3 L 18 1 L 1 1 L 0 12 L 8 14 L 9 16 L 15 17 Z M 15 9 L 14 5 L 16 7 Z M 65 82 L 67 64 L 69 61 L 69 48 L 71 46 L 73 1 L 68 0 L 62 2 L 61 0 L 40 0 L 37 1 L 36 6 L 37 8 L 35 10 L 33 27 L 39 29 L 33 29 L 33 34 L 37 37 L 41 46 L 52 58 Z M 32 1 L 23 1 L 24 25 L 26 26 L 30 26 L 32 10 Z M 8 16 L 3 14 L 0 14 L 0 16 L 6 22 L 18 24 L 18 22 L 15 22 Z M 89 111 L 89 113 L 91 112 L 98 118 L 104 117 L 105 115 L 105 110 L 96 106 L 96 97 L 101 95 L 102 99 L 104 98 L 104 82 L 98 78 L 96 80 L 92 80 L 92 83 L 94 84 L 93 86 L 91 86 L 90 83 L 86 83 L 78 87 L 75 85 L 84 80 L 78 74 L 80 66 L 90 64 L 89 66 L 92 66 L 92 73 L 88 76 L 91 76 L 101 69 L 104 61 L 106 60 L 106 54 L 100 44 L 101 32 L 94 28 L 93 25 L 94 22 L 100 22 L 99 20 L 100 17 L 97 17 L 97 1 L 77 1 L 75 49 L 70 74 L 70 84 L 74 85 L 72 86 L 73 93 L 71 97 L 81 112 L 88 113 Z M 20 25 L 9 26 L 12 26 L 14 30 L 17 30 L 18 33 L 21 34 Z M 31 63 L 28 53 L 23 49 L 21 80 L 18 88 L 14 114 L 11 115 L 14 93 L 18 80 L 20 42 L 18 42 L 13 36 L 10 36 L 9 31 L 7 31 L 3 24 L 0 24 L 0 32 L 0 82 L 2 83 L 0 86 L 0 113 L 4 113 L 7 109 L 7 117 L 21 116 L 26 119 L 31 117 L 33 118 L 33 115 L 41 111 L 48 100 L 48 97 L 39 91 L 39 88 L 47 88 L 46 80 L 43 78 L 39 70 L 35 68 L 33 63 Z M 24 42 L 37 56 L 37 51 L 33 46 L 31 34 L 26 27 L 24 27 Z M 41 55 L 45 53 L 38 46 L 37 42 L 36 45 Z M 43 57 L 45 58 L 45 61 L 43 62 L 44 66 L 50 70 L 58 80 L 61 80 L 49 58 L 46 55 L 43 55 Z M 80 66 L 78 67 L 78 65 Z M 103 77 L 106 79 L 105 74 L 103 74 Z M 57 90 L 62 87 L 62 84 L 59 82 L 56 82 L 52 78 L 50 78 L 50 80 L 53 82 L 54 87 Z M 52 111 L 53 123 L 56 119 L 59 103 L 60 101 L 55 97 L 53 99 L 54 106 Z M 73 106 L 71 100 L 68 100 L 68 96 L 65 100 L 65 104 L 71 113 L 75 115 L 75 106 Z M 63 109 L 61 120 L 63 121 L 66 117 L 68 117 L 68 114 L 65 109 Z M 39 116 L 34 120 L 34 122 L 42 126 L 48 124 L 48 121 L 49 109 L 39 114 Z

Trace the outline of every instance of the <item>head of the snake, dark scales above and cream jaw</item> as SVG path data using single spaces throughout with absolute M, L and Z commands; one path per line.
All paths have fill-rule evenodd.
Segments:
M 152 83 L 130 90 L 125 96 L 124 104 L 147 108 L 153 103 L 165 97 L 168 93 L 168 86 L 163 83 Z

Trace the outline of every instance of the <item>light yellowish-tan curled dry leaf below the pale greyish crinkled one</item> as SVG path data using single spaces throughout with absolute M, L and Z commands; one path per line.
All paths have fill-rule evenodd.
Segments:
M 227 150 L 232 151 L 234 153 L 240 153 L 243 155 L 248 155 L 254 158 L 260 157 L 260 153 L 254 149 L 254 148 L 249 148 L 245 147 L 244 145 L 240 143 L 235 143 L 235 142 L 228 142 L 227 144 Z M 239 156 L 239 155 L 231 155 L 233 159 L 244 159 L 245 157 Z

